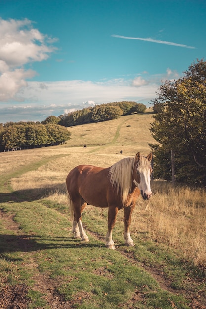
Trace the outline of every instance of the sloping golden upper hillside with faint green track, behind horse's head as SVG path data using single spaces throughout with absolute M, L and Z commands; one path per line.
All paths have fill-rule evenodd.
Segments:
M 137 151 L 150 152 L 148 143 L 154 143 L 150 133 L 152 113 L 148 109 L 143 114 L 122 116 L 115 120 L 69 127 L 72 133 L 68 146 L 101 146 L 97 152 L 107 149 L 107 153 L 134 155 Z

